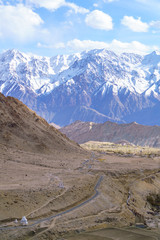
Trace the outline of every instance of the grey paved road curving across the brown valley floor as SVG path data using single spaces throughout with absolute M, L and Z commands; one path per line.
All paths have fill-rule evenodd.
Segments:
M 87 199 L 87 200 L 85 200 L 84 202 L 80 203 L 79 205 L 77 205 L 77 206 L 75 206 L 75 207 L 72 207 L 72 208 L 70 208 L 70 209 L 68 209 L 68 210 L 65 210 L 65 211 L 63 211 L 63 212 L 61 212 L 61 213 L 57 213 L 56 215 L 52 215 L 52 216 L 47 217 L 47 218 L 39 219 L 39 220 L 35 221 L 35 222 L 32 223 L 32 224 L 28 224 L 27 226 L 0 227 L 0 231 L 4 231 L 4 230 L 14 230 L 14 229 L 16 230 L 16 229 L 34 227 L 35 225 L 40 224 L 40 223 L 42 223 L 42 222 L 50 221 L 50 220 L 52 220 L 52 219 L 54 219 L 54 218 L 56 218 L 56 217 L 59 217 L 59 216 L 62 216 L 62 215 L 64 215 L 64 214 L 66 214 L 66 213 L 72 212 L 73 210 L 76 210 L 76 209 L 80 208 L 81 206 L 89 203 L 90 201 L 92 201 L 93 199 L 95 199 L 95 198 L 99 195 L 98 188 L 99 188 L 99 185 L 101 184 L 102 180 L 103 180 L 103 176 L 100 176 L 99 179 L 98 179 L 98 181 L 97 181 L 97 184 L 96 184 L 95 187 L 94 187 L 95 194 L 94 194 L 92 197 L 90 197 L 89 199 Z

